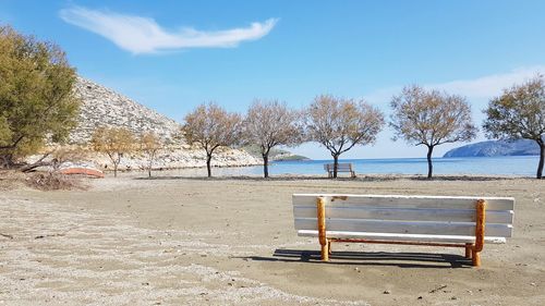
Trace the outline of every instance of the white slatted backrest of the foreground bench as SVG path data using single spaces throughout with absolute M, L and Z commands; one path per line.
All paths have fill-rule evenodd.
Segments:
M 319 196 L 326 198 L 327 231 L 473 236 L 475 204 L 484 199 L 485 235 L 512 235 L 511 197 L 295 194 L 295 230 L 317 230 Z

